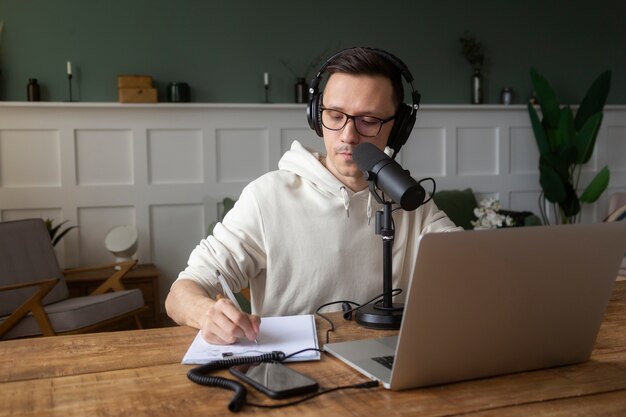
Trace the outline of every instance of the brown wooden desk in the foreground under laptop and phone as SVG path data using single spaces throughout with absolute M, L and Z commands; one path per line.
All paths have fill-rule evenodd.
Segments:
M 331 341 L 376 332 L 343 321 Z M 320 341 L 327 324 L 318 321 Z M 232 416 L 230 391 L 187 380 L 187 327 L 0 342 L 0 416 Z M 337 359 L 294 363 L 323 387 L 365 378 Z M 226 371 L 221 372 L 228 375 Z M 269 402 L 253 389 L 248 399 Z M 437 387 L 337 391 L 295 407 L 242 414 L 282 416 L 622 416 L 626 414 L 626 282 L 618 282 L 590 361 Z

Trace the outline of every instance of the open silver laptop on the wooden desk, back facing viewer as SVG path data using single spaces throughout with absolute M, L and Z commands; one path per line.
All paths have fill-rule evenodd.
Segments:
M 584 362 L 625 252 L 626 222 L 427 234 L 399 335 L 324 350 L 393 390 Z

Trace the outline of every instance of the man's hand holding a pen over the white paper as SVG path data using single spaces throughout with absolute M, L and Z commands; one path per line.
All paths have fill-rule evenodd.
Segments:
M 232 301 L 218 298 L 201 318 L 201 335 L 216 345 L 235 343 L 245 337 L 255 340 L 259 334 L 261 318 L 242 312 Z

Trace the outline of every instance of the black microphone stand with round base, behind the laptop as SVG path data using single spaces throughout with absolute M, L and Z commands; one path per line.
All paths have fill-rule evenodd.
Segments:
M 368 172 L 370 192 L 376 201 L 383 205 L 382 211 L 376 212 L 376 234 L 383 239 L 383 300 L 382 303 L 369 304 L 356 311 L 357 323 L 373 329 L 399 329 L 402 323 L 404 304 L 394 303 L 392 297 L 393 263 L 392 249 L 395 230 L 391 217 L 391 201 L 385 201 L 375 188 L 375 175 Z

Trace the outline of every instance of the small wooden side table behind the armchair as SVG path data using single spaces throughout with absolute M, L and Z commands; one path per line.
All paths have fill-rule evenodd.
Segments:
M 113 275 L 113 269 L 76 272 L 65 275 L 65 281 L 71 297 L 89 295 L 105 279 Z M 122 279 L 129 290 L 138 288 L 143 294 L 148 309 L 139 314 L 144 328 L 161 326 L 161 300 L 159 299 L 159 270 L 152 264 L 140 264 Z M 131 322 L 134 325 L 134 322 Z M 131 327 L 136 329 L 137 327 Z M 116 329 L 117 330 L 117 329 Z

